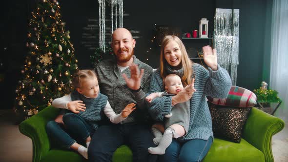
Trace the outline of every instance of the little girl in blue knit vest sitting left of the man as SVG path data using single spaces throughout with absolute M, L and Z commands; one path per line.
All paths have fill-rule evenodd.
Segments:
M 61 122 L 59 118 L 49 121 L 46 131 L 50 138 L 59 141 L 67 148 L 78 151 L 85 159 L 88 159 L 87 149 L 91 135 L 98 128 L 97 122 L 102 118 L 101 113 L 104 112 L 111 122 L 119 123 L 136 109 L 136 104 L 130 103 L 122 113 L 116 114 L 107 101 L 107 96 L 100 93 L 96 74 L 92 70 L 76 72 L 72 84 L 76 90 L 52 102 L 54 107 L 69 109 L 73 112 L 64 114 L 62 118 L 68 133 L 62 129 L 60 123 L 56 122 Z M 86 147 L 76 141 L 86 142 Z

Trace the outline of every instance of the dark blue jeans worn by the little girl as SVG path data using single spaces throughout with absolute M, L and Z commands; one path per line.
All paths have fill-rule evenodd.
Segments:
M 70 148 L 76 141 L 85 143 L 86 139 L 92 137 L 94 133 L 93 127 L 77 114 L 65 114 L 63 122 L 65 127 L 56 121 L 48 121 L 46 131 L 51 140 L 66 148 Z

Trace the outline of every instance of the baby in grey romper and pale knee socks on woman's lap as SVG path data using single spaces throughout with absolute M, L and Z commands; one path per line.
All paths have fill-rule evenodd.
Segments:
M 193 80 L 194 81 L 194 80 Z M 173 96 L 181 92 L 184 87 L 181 78 L 176 74 L 169 74 L 164 79 L 165 92 L 151 93 L 146 97 L 146 101 L 151 102 L 156 97 Z M 188 88 L 188 87 L 187 87 Z M 192 83 L 192 91 L 195 92 L 194 85 Z M 170 114 L 165 115 L 164 126 L 165 132 L 162 136 L 161 130 L 163 130 L 162 124 L 152 125 L 151 131 L 155 138 L 153 142 L 158 144 L 157 147 L 149 147 L 148 152 L 150 154 L 165 154 L 166 148 L 171 144 L 172 137 L 177 139 L 183 137 L 188 132 L 189 120 L 190 120 L 190 101 L 178 103 L 171 109 Z

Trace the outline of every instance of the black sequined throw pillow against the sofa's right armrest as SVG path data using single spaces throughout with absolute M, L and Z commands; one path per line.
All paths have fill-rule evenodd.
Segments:
M 237 108 L 208 102 L 214 137 L 239 143 L 251 107 Z

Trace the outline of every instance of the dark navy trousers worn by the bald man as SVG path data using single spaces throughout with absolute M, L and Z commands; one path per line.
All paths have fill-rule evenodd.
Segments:
M 126 123 L 100 126 L 88 149 L 89 162 L 111 162 L 115 150 L 126 144 L 133 154 L 133 162 L 156 162 L 157 155 L 148 153 L 153 143 L 151 125 Z

